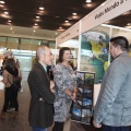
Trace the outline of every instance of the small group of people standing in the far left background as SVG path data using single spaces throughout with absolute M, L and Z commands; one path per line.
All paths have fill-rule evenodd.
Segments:
M 19 102 L 17 92 L 21 88 L 22 74 L 20 66 L 14 60 L 12 52 L 8 52 L 4 56 L 1 74 L 3 76 L 2 82 L 4 83 L 4 104 L 0 115 L 1 119 L 5 119 L 5 112 L 10 114 L 11 118 L 17 118 L 19 115 Z

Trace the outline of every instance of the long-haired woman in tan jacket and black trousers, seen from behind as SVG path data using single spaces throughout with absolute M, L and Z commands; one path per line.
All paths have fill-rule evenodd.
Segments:
M 12 90 L 12 84 L 14 83 L 14 78 L 19 75 L 19 70 L 16 68 L 13 58 L 7 59 L 2 75 L 3 75 L 3 83 L 5 85 L 5 88 L 4 88 L 4 104 L 1 112 L 1 119 L 5 119 L 5 112 L 9 105 L 14 106 L 15 108 L 14 118 L 15 118 L 19 111 L 17 91 Z

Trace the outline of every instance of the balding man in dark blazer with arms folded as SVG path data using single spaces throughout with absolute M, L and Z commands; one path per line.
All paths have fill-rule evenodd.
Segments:
M 31 105 L 28 121 L 32 131 L 47 131 L 53 122 L 53 82 L 50 82 L 46 67 L 51 66 L 52 53 L 48 47 L 40 46 L 36 51 L 38 62 L 28 75 Z

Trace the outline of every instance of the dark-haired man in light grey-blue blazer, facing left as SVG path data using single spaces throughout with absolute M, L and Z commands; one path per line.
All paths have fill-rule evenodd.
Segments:
M 106 71 L 94 110 L 94 126 L 103 131 L 129 131 L 131 126 L 131 58 L 126 37 L 110 39 L 114 61 Z

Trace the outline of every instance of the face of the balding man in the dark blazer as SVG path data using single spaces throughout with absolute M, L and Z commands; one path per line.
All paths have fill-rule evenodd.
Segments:
M 51 50 L 46 47 L 46 53 L 40 53 L 40 61 L 45 66 L 51 66 L 53 61 L 53 56 L 51 53 Z

